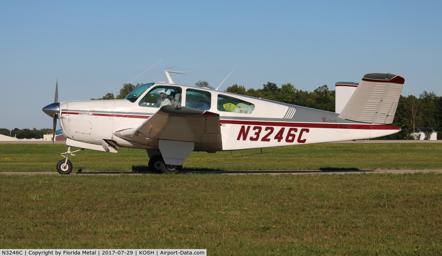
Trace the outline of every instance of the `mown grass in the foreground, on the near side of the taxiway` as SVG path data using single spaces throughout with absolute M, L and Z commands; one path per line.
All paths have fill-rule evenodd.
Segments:
M 0 248 L 442 255 L 441 174 L 0 174 Z

